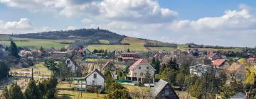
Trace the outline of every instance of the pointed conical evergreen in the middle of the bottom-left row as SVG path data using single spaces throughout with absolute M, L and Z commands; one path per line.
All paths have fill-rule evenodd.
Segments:
M 25 95 L 26 99 L 41 99 L 42 98 L 40 91 L 38 90 L 38 87 L 36 86 L 36 82 L 33 80 L 33 78 L 31 78 L 31 81 L 29 81 L 24 95 Z

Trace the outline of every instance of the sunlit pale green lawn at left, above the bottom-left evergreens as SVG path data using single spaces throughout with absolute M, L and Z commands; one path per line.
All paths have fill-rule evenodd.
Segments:
M 32 68 L 33 68 L 33 71 L 40 72 L 40 74 L 43 74 L 44 76 L 51 75 L 51 71 L 48 70 L 45 66 L 43 66 L 43 62 L 39 64 L 35 64 L 34 66 L 30 66 L 29 68 L 21 68 L 21 69 L 11 68 L 11 71 L 31 71 Z M 35 76 L 37 76 L 37 74 Z

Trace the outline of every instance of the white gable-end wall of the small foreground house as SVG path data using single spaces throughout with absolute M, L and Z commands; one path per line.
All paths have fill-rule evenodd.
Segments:
M 97 78 L 93 78 L 94 74 L 97 74 Z M 102 88 L 104 88 L 104 78 L 96 71 L 86 78 L 86 85 L 92 86 L 92 81 L 95 81 L 95 85 L 102 86 Z

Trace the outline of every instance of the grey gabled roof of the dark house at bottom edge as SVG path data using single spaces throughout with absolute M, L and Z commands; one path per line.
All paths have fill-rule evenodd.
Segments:
M 151 94 L 153 95 L 154 98 L 156 98 L 157 95 L 159 95 L 159 93 L 161 91 L 163 91 L 163 89 L 168 85 L 168 82 L 160 79 L 158 83 L 156 83 L 156 86 L 153 88 L 153 90 L 151 91 Z M 174 92 L 174 95 L 176 95 L 176 98 L 178 98 L 178 95 L 175 93 L 175 91 L 171 88 L 171 91 Z

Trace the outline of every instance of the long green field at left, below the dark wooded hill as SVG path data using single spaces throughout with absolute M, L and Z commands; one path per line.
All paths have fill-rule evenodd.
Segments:
M 0 37 L 0 45 L 10 45 L 10 41 L 4 41 L 6 37 Z M 74 40 L 45 40 L 45 39 L 31 39 L 31 38 L 18 38 L 12 37 L 14 42 L 18 47 L 28 47 L 28 48 L 44 48 L 54 47 L 55 49 L 60 49 L 61 47 L 68 46 L 67 44 L 60 44 L 60 42 L 74 42 Z

